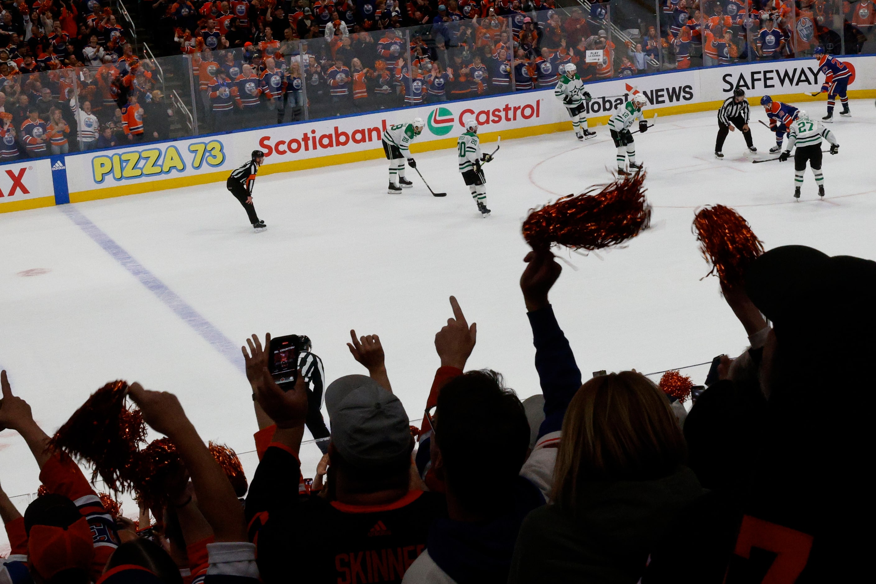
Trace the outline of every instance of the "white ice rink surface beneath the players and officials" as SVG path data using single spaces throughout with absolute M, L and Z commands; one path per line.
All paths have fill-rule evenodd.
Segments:
M 702 205 L 736 208 L 767 249 L 802 243 L 876 257 L 876 109 L 850 103 L 854 117 L 827 126 L 841 147 L 824 156 L 823 201 L 809 170 L 794 201 L 792 161 L 752 165 L 773 156 L 773 134 L 757 123 L 767 119 L 762 108 L 752 107 L 757 155 L 736 131 L 726 158 L 715 159 L 714 112 L 658 118 L 636 135 L 652 229 L 598 256 L 559 251 L 577 271 L 564 267 L 551 300 L 585 378 L 745 348 L 717 278 L 701 279 L 709 268 L 691 222 Z M 824 115 L 824 102 L 796 105 Z M 611 179 L 615 148 L 606 127 L 596 130 L 585 143 L 570 131 L 504 141 L 484 167 L 488 219 L 454 149 L 416 156 L 431 186 L 449 193 L 443 199 L 411 169 L 413 188 L 387 194 L 382 159 L 259 177 L 256 208 L 268 225 L 260 234 L 224 184 L 0 215 L 0 365 L 48 433 L 89 393 L 123 378 L 176 393 L 204 440 L 248 452 L 257 429 L 239 354 L 248 334 L 309 335 L 329 380 L 366 373 L 346 347 L 350 328 L 379 334 L 393 390 L 420 419 L 439 365 L 434 334 L 452 315 L 453 294 L 477 321 L 469 367 L 502 372 L 526 398 L 540 389 L 518 286 L 528 250 L 520 225 L 528 209 Z M 685 372 L 702 383 L 707 369 Z M 304 458 L 312 475 L 312 445 Z M 244 462 L 251 476 L 254 455 Z M 36 463 L 9 430 L 0 433 L 0 468 L 10 495 L 36 491 Z

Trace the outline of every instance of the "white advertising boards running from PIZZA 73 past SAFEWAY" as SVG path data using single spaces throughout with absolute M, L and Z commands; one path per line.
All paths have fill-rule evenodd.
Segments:
M 850 90 L 876 88 L 876 57 L 840 59 L 855 71 Z M 804 59 L 590 82 L 587 89 L 593 99 L 587 105 L 587 115 L 593 120 L 591 125 L 605 123 L 633 91 L 646 96 L 646 116 L 650 117 L 661 110 L 671 115 L 717 109 L 717 102 L 731 95 L 736 87 L 745 89 L 746 95 L 755 99 L 761 95 L 796 95 L 803 99 L 802 94 L 818 91 L 823 81 L 817 61 Z M 824 99 L 823 95 L 820 99 Z M 74 154 L 65 160 L 70 201 L 224 180 L 228 172 L 249 160 L 251 151 L 256 149 L 265 151 L 265 172 L 378 158 L 382 156 L 383 132 L 393 124 L 407 123 L 418 116 L 426 121 L 426 128 L 414 141 L 414 152 L 418 151 L 417 144 L 455 138 L 463 131 L 463 120 L 470 116 L 477 120 L 481 132 L 532 128 L 531 133 L 539 133 L 537 126 L 546 126 L 540 131 L 555 131 L 564 127 L 558 123 L 569 123 L 566 109 L 555 98 L 553 88 L 548 88 Z M 513 132 L 509 137 L 513 137 Z M 5 178 L 6 173 L 0 172 L 0 179 Z M 22 193 L 20 187 L 18 193 Z

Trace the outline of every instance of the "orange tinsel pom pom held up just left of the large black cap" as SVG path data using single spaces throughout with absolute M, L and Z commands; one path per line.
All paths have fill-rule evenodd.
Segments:
M 754 235 L 742 215 L 724 205 L 704 207 L 694 217 L 696 239 L 706 262 L 717 272 L 724 285 L 736 285 L 745 278 L 745 268 L 764 252 L 764 245 Z

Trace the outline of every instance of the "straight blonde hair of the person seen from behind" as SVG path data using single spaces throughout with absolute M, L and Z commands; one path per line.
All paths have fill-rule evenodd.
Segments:
M 562 420 L 554 501 L 573 513 L 588 481 L 645 481 L 675 472 L 687 456 L 666 395 L 633 371 L 584 383 Z

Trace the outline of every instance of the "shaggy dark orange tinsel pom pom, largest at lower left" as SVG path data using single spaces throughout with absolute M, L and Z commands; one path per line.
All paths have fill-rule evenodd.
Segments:
M 128 383 L 114 381 L 91 394 L 61 426 L 49 447 L 88 461 L 94 468 L 91 481 L 100 475 L 109 489 L 131 488 L 128 471 L 145 442 L 146 425 L 139 410 L 125 404 Z

